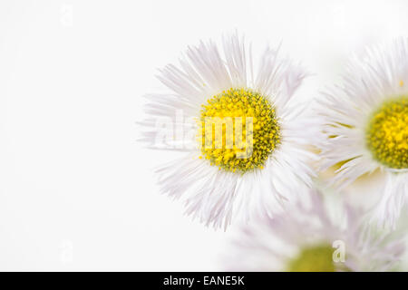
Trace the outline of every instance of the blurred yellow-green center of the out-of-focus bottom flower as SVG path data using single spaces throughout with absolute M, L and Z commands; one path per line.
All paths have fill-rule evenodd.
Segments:
M 288 272 L 335 272 L 333 248 L 329 245 L 306 247 L 287 266 Z

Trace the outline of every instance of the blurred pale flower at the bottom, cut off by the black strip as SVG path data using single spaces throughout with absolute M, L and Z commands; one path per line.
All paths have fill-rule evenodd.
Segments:
M 235 232 L 223 264 L 228 271 L 343 272 L 396 270 L 403 257 L 399 234 L 370 228 L 355 208 L 306 193 L 275 218 L 259 217 Z

